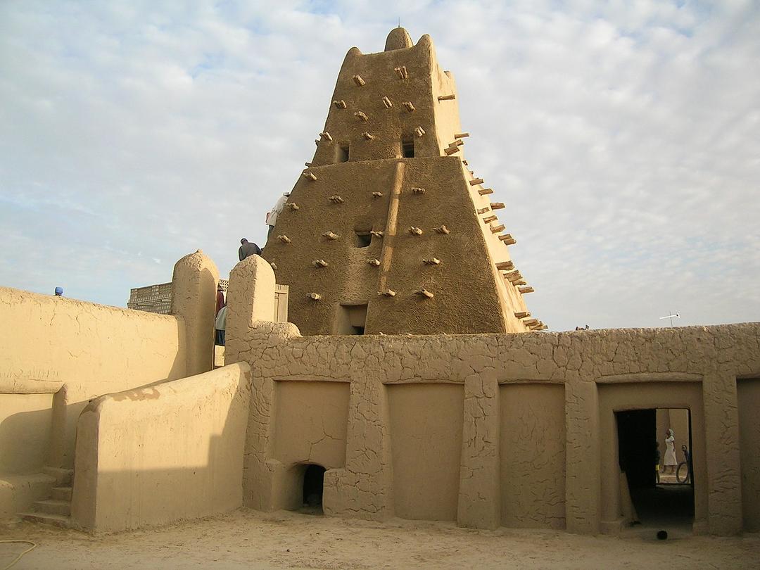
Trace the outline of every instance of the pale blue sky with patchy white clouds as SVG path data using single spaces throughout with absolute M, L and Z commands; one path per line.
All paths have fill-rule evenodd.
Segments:
M 352 46 L 454 73 L 550 330 L 760 321 L 760 3 L 0 2 L 0 286 L 125 306 L 226 276 L 311 160 Z

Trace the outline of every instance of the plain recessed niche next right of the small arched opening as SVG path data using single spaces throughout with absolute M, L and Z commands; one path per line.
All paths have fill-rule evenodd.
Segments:
M 464 385 L 388 385 L 396 515 L 454 521 L 459 499 Z

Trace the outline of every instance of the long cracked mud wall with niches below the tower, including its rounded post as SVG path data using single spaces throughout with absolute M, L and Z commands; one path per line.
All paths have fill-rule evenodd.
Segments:
M 249 258 L 230 295 L 268 298 L 271 283 L 269 265 Z M 760 485 L 745 449 L 760 432 L 746 413 L 760 404 L 749 379 L 760 378 L 758 323 L 300 337 L 257 317 L 265 308 L 238 308 L 226 358 L 252 366 L 245 505 L 292 507 L 303 466 L 320 464 L 328 515 L 615 533 L 615 412 L 687 408 L 695 532 L 756 524 L 760 499 L 742 489 Z

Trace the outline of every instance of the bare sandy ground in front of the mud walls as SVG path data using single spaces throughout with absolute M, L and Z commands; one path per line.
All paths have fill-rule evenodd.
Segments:
M 15 568 L 758 568 L 760 534 L 692 537 L 629 530 L 623 538 L 551 530 L 467 530 L 242 509 L 152 530 L 90 536 L 18 523 L 0 538 L 39 546 Z M 25 548 L 0 543 L 0 568 Z

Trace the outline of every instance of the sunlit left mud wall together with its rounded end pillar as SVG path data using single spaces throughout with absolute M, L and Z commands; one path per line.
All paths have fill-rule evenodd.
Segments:
M 46 498 L 24 490 L 43 467 L 74 467 L 90 399 L 211 369 L 217 280 L 202 252 L 180 259 L 173 315 L 0 288 L 0 518 Z

